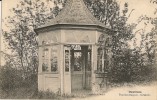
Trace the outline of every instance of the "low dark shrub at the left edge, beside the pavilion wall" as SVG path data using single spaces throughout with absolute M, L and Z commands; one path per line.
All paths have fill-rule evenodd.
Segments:
M 0 88 L 3 91 L 10 91 L 20 87 L 37 87 L 37 74 L 28 74 L 23 77 L 23 71 L 5 65 L 0 69 Z

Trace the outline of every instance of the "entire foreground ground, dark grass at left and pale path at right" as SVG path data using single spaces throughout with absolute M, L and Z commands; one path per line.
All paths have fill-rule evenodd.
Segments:
M 117 84 L 116 84 L 117 85 Z M 91 95 L 90 92 L 81 92 L 75 95 L 58 96 L 50 92 L 39 92 L 31 88 L 20 88 L 7 94 L 0 92 L 0 99 L 52 99 L 52 100 L 157 100 L 157 82 L 144 85 L 126 83 L 112 86 L 103 95 Z

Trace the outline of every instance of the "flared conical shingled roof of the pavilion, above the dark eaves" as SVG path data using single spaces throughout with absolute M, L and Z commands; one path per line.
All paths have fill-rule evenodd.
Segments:
M 83 0 L 67 0 L 65 7 L 58 16 L 40 26 L 40 28 L 58 24 L 95 25 L 105 27 L 103 23 L 99 22 L 91 14 Z

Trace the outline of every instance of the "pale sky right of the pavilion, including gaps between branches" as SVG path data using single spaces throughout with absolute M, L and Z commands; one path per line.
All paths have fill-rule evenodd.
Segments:
M 123 9 L 123 5 L 125 2 L 128 3 L 129 7 L 129 13 L 131 12 L 132 9 L 133 12 L 128 20 L 128 23 L 137 23 L 138 19 L 142 15 L 146 15 L 147 17 L 157 17 L 157 14 L 154 14 L 155 8 L 157 8 L 156 4 L 150 3 L 150 0 L 118 0 L 119 4 L 121 5 L 121 9 Z M 145 33 L 150 32 L 151 29 L 154 26 L 152 26 L 151 23 L 147 23 L 146 21 L 142 21 L 137 25 L 137 27 L 133 30 L 133 34 L 136 34 L 137 38 L 137 45 L 140 45 L 140 40 L 141 40 L 141 33 L 142 31 L 138 31 L 140 29 L 145 28 Z M 137 32 L 137 33 L 136 33 Z M 133 47 L 133 40 L 129 42 L 131 48 Z

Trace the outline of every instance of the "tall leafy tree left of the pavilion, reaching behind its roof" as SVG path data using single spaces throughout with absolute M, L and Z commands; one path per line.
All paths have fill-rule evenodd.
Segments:
M 57 4 L 50 7 L 49 3 L 53 1 L 20 1 L 16 8 L 11 9 L 14 15 L 5 18 L 9 31 L 3 30 L 3 36 L 9 49 L 16 55 L 14 63 L 18 63 L 26 77 L 30 73 L 37 73 L 38 68 L 38 38 L 33 29 L 44 24 L 47 19 L 54 18 L 60 11 Z

